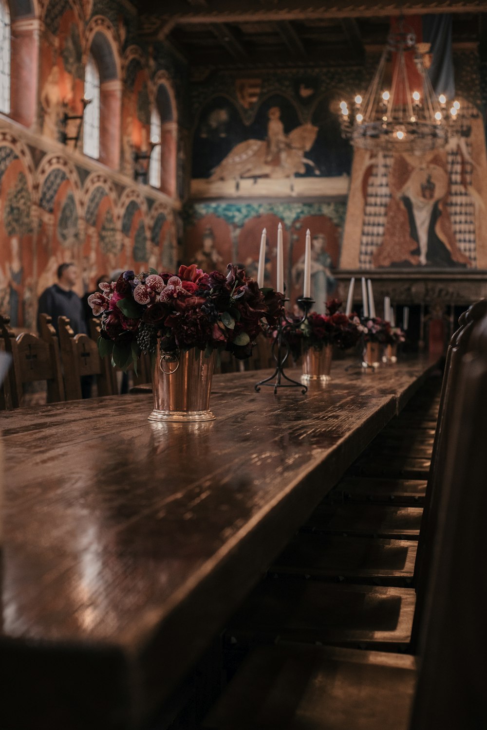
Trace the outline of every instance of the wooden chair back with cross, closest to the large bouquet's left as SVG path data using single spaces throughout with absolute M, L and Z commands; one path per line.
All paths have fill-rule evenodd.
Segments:
M 113 394 L 110 363 L 99 356 L 96 342 L 87 334 L 74 334 L 67 317 L 58 318 L 59 345 L 64 369 L 66 400 L 82 397 L 81 377 L 95 375 L 99 396 Z

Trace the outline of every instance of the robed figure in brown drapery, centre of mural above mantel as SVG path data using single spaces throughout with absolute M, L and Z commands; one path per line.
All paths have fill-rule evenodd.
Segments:
M 471 265 L 453 233 L 447 207 L 448 172 L 441 155 L 416 166 L 404 155 L 396 155 L 388 186 L 391 200 L 374 266 Z

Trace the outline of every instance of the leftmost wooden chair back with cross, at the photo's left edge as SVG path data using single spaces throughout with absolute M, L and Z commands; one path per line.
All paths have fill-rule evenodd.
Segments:
M 9 404 L 18 408 L 23 401 L 23 385 L 45 380 L 47 402 L 64 401 L 64 385 L 57 338 L 50 343 L 31 332 L 15 337 L 9 318 L 0 315 L 0 330 L 7 353 L 12 356 L 9 377 Z M 6 391 L 4 391 L 5 393 Z

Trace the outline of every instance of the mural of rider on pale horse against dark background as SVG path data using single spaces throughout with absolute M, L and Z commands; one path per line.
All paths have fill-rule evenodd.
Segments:
M 204 101 L 193 130 L 193 197 L 348 192 L 352 155 L 340 135 L 340 91 L 318 77 L 281 86 L 289 88 L 272 92 L 267 79 L 237 78 Z

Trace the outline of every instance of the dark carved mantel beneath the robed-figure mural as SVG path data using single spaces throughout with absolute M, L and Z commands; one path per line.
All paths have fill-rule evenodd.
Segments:
M 469 305 L 478 299 L 487 299 L 487 270 L 464 269 L 417 270 L 375 269 L 364 271 L 340 270 L 334 272 L 338 295 L 346 300 L 350 277 L 355 277 L 353 301 L 361 303 L 361 277 L 372 280 L 376 306 L 384 296 L 390 296 L 393 304 L 443 304 Z M 379 307 L 377 306 L 377 310 Z

